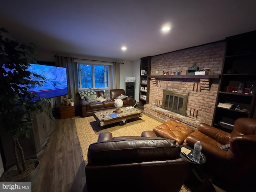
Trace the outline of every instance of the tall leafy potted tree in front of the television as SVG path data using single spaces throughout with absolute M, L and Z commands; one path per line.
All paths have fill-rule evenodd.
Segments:
M 42 76 L 27 71 L 29 63 L 36 63 L 34 44 L 10 40 L 3 33 L 7 33 L 7 30 L 0 28 L 0 128 L 12 138 L 16 159 L 16 166 L 4 173 L 3 179 L 30 181 L 24 179 L 24 176 L 33 173 L 39 162 L 25 161 L 19 138 L 30 137 L 31 115 L 38 110 L 42 112 L 42 101 L 49 100 L 29 91 L 30 86 L 41 86 L 45 80 Z M 33 101 L 35 98 L 38 100 Z M 12 180 L 8 178 L 10 173 Z

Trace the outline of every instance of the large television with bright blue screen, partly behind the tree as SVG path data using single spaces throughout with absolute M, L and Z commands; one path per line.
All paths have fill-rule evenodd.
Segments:
M 31 86 L 28 90 L 40 97 L 52 98 L 68 94 L 67 71 L 65 67 L 30 64 L 28 71 L 45 78 L 42 86 Z M 38 80 L 32 77 L 32 80 Z

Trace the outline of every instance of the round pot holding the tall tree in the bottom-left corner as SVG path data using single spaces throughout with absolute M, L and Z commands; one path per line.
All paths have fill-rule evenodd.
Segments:
M 13 171 L 17 171 L 18 172 L 18 170 L 17 170 L 17 166 L 16 165 L 14 165 L 13 167 L 11 167 L 10 169 L 8 169 L 4 174 L 3 174 L 3 177 L 2 177 L 2 180 L 3 181 L 13 181 L 13 182 L 19 182 L 19 181 L 30 181 L 31 182 L 31 187 L 33 187 L 34 186 L 34 184 L 36 183 L 36 175 L 37 175 L 37 172 L 38 172 L 38 168 L 39 168 L 39 160 L 37 160 L 37 159 L 29 159 L 29 160 L 26 160 L 25 161 L 25 163 L 26 164 L 29 164 L 29 163 L 34 163 L 35 165 L 36 165 L 36 168 L 32 171 L 32 172 L 30 172 L 29 174 L 27 174 L 26 176 L 24 176 L 23 178 L 20 178 L 20 179 L 18 179 L 18 180 L 8 180 L 7 178 L 8 178 L 8 176 L 10 176 L 10 174 L 13 172 Z M 22 165 L 21 164 L 21 162 L 20 162 L 20 165 Z

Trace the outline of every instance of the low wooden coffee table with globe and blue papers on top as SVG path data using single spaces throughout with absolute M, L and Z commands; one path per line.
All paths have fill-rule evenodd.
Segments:
M 116 113 L 115 109 L 108 109 L 108 110 L 95 112 L 93 116 L 98 122 L 98 125 L 101 127 L 108 124 L 116 123 L 116 122 L 120 122 L 120 125 L 125 125 L 127 122 L 127 119 L 143 116 L 143 112 L 136 108 L 126 110 L 126 107 L 122 107 L 120 109 L 122 111 L 120 113 Z M 112 113 L 118 114 L 119 117 L 117 118 L 110 117 L 109 114 L 112 114 Z

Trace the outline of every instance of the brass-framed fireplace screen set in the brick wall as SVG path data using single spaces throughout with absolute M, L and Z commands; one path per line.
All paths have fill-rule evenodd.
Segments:
M 186 116 L 188 93 L 164 90 L 162 108 Z

